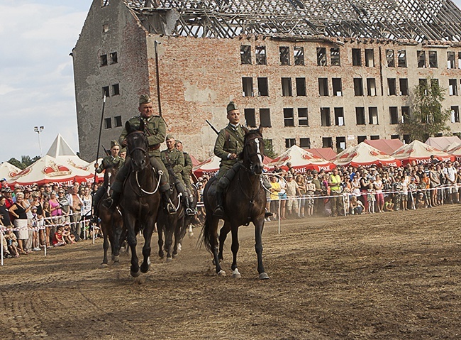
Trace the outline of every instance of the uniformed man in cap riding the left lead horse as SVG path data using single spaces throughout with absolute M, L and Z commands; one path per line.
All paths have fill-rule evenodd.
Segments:
M 144 133 L 145 136 L 148 138 L 148 152 L 150 157 L 150 165 L 157 172 L 162 173 L 160 177 L 160 193 L 162 194 L 162 204 L 163 208 L 168 214 L 175 214 L 176 210 L 174 209 L 174 205 L 170 199 L 170 179 L 168 177 L 167 169 L 163 164 L 162 160 L 160 160 L 160 144 L 165 141 L 165 135 L 167 133 L 167 124 L 161 116 L 157 116 L 154 114 L 154 106 L 152 104 L 152 100 L 147 94 L 143 94 L 139 97 L 139 106 L 138 111 L 140 114 L 138 116 L 134 116 L 133 118 L 128 120 L 128 124 L 133 126 L 133 128 L 139 128 L 140 121 L 144 121 Z M 126 135 L 128 132 L 126 128 L 123 128 L 123 131 L 118 138 L 118 142 L 122 147 L 126 147 Z M 120 170 L 118 170 L 116 175 L 116 180 L 111 185 L 112 194 L 111 197 L 106 199 L 104 202 L 104 206 L 107 208 L 114 209 L 121 199 L 121 192 L 123 190 L 123 182 L 125 181 L 126 177 L 128 176 L 129 167 L 122 166 Z

